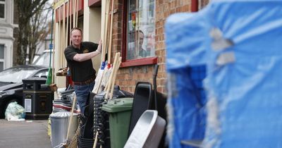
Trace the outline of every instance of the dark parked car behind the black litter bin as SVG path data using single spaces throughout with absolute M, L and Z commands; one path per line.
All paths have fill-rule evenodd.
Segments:
M 9 103 L 17 101 L 23 106 L 23 79 L 46 78 L 46 66 L 14 66 L 0 72 L 0 118 L 4 118 Z

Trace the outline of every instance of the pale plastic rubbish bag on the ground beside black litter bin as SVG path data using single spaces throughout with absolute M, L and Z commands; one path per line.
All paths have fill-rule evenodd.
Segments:
M 20 106 L 18 102 L 14 101 L 8 104 L 5 111 L 5 118 L 8 121 L 24 121 L 25 120 L 25 109 Z

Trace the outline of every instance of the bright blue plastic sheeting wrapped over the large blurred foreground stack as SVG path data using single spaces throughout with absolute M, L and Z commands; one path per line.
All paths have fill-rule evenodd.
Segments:
M 204 86 L 208 116 L 202 146 L 282 147 L 282 1 L 219 0 L 212 1 L 204 11 L 187 14 L 186 18 L 182 15 L 173 15 L 166 22 L 166 66 L 169 75 L 176 75 L 180 70 L 185 75 L 185 68 L 189 66 L 207 66 Z M 183 20 L 174 19 L 178 16 Z M 203 23 L 206 25 L 199 30 Z M 177 24 L 178 29 L 172 30 L 173 24 Z M 214 28 L 233 44 L 214 49 L 215 39 L 211 35 Z M 173 34 L 178 35 L 181 42 L 173 38 Z M 171 109 L 183 106 L 181 102 L 173 104 L 180 100 L 173 94 L 181 96 L 185 91 L 176 92 L 168 96 Z M 171 111 L 171 119 L 188 115 L 190 108 L 186 110 L 186 113 Z M 189 137 L 187 132 L 177 130 L 181 127 L 190 131 L 194 126 L 181 125 L 176 119 L 169 124 L 173 129 L 170 147 L 185 147 L 173 138 Z

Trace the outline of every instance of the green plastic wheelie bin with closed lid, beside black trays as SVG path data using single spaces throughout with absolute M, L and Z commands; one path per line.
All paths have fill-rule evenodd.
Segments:
M 111 99 L 102 106 L 109 113 L 111 147 L 122 148 L 128 140 L 133 98 Z

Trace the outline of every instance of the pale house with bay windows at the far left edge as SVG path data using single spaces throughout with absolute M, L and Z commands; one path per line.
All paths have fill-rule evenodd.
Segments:
M 0 0 L 0 71 L 13 66 L 18 37 L 18 15 L 13 0 Z

